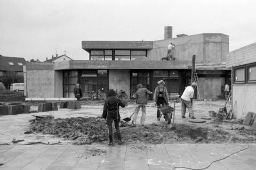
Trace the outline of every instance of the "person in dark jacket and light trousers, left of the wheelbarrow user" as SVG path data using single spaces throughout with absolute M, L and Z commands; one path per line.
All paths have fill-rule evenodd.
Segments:
M 140 123 L 141 126 L 145 125 L 145 120 L 146 120 L 146 106 L 147 106 L 147 98 L 148 95 L 153 94 L 153 92 L 149 91 L 147 88 L 143 88 L 142 84 L 138 84 L 137 85 L 137 92 L 136 92 L 136 107 L 135 107 L 135 113 L 133 116 L 133 120 L 132 120 L 132 126 L 136 126 L 136 120 L 137 120 L 137 115 L 140 111 L 141 108 L 141 119 L 140 119 Z

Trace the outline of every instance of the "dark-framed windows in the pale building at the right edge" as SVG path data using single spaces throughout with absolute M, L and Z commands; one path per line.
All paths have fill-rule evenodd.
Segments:
M 233 83 L 256 83 L 256 63 L 234 67 Z

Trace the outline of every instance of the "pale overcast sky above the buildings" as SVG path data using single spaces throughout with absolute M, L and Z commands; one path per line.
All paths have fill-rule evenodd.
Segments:
M 256 1 L 0 0 L 0 54 L 44 61 L 86 60 L 82 40 L 159 40 L 180 33 L 224 33 L 229 50 L 255 43 Z

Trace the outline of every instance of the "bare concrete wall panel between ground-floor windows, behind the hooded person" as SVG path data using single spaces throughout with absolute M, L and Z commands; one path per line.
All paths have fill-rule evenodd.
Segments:
M 109 89 L 123 90 L 130 99 L 130 70 L 109 70 Z

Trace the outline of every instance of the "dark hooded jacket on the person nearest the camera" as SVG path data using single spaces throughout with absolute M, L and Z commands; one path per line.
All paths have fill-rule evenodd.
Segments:
M 116 97 L 115 90 L 109 89 L 108 98 L 103 107 L 102 117 L 106 118 L 106 120 L 120 120 L 119 106 L 125 107 L 125 104 Z

